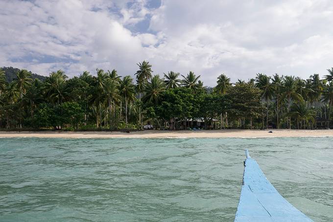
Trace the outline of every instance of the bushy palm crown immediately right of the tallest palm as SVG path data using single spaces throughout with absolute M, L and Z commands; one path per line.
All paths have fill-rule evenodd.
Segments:
M 158 103 L 162 93 L 166 90 L 165 83 L 159 75 L 154 75 L 144 89 L 143 102 Z

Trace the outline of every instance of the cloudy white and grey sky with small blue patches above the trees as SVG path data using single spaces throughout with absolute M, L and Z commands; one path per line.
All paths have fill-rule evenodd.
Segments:
M 333 67 L 332 24 L 332 0 L 0 0 L 0 67 L 306 79 Z

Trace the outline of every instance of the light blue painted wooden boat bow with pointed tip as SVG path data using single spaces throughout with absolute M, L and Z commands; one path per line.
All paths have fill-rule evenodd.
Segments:
M 235 222 L 312 222 L 285 200 L 246 150 Z

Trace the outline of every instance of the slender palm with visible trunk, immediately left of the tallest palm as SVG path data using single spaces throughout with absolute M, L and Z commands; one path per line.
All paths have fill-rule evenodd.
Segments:
M 126 128 L 127 128 L 127 105 L 128 102 L 134 100 L 135 98 L 135 86 L 133 84 L 133 79 L 130 76 L 125 76 L 119 81 L 119 92 L 125 101 L 125 118 L 126 118 Z

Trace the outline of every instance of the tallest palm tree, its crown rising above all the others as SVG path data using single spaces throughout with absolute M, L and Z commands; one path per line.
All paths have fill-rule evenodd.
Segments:
M 139 70 L 134 74 L 137 76 L 137 91 L 139 92 L 139 123 L 140 128 L 142 125 L 142 118 L 141 118 L 141 92 L 145 88 L 145 83 L 151 78 L 151 73 L 153 70 L 151 70 L 151 65 L 149 62 L 146 62 L 143 60 L 142 63 L 137 64 L 139 66 Z

